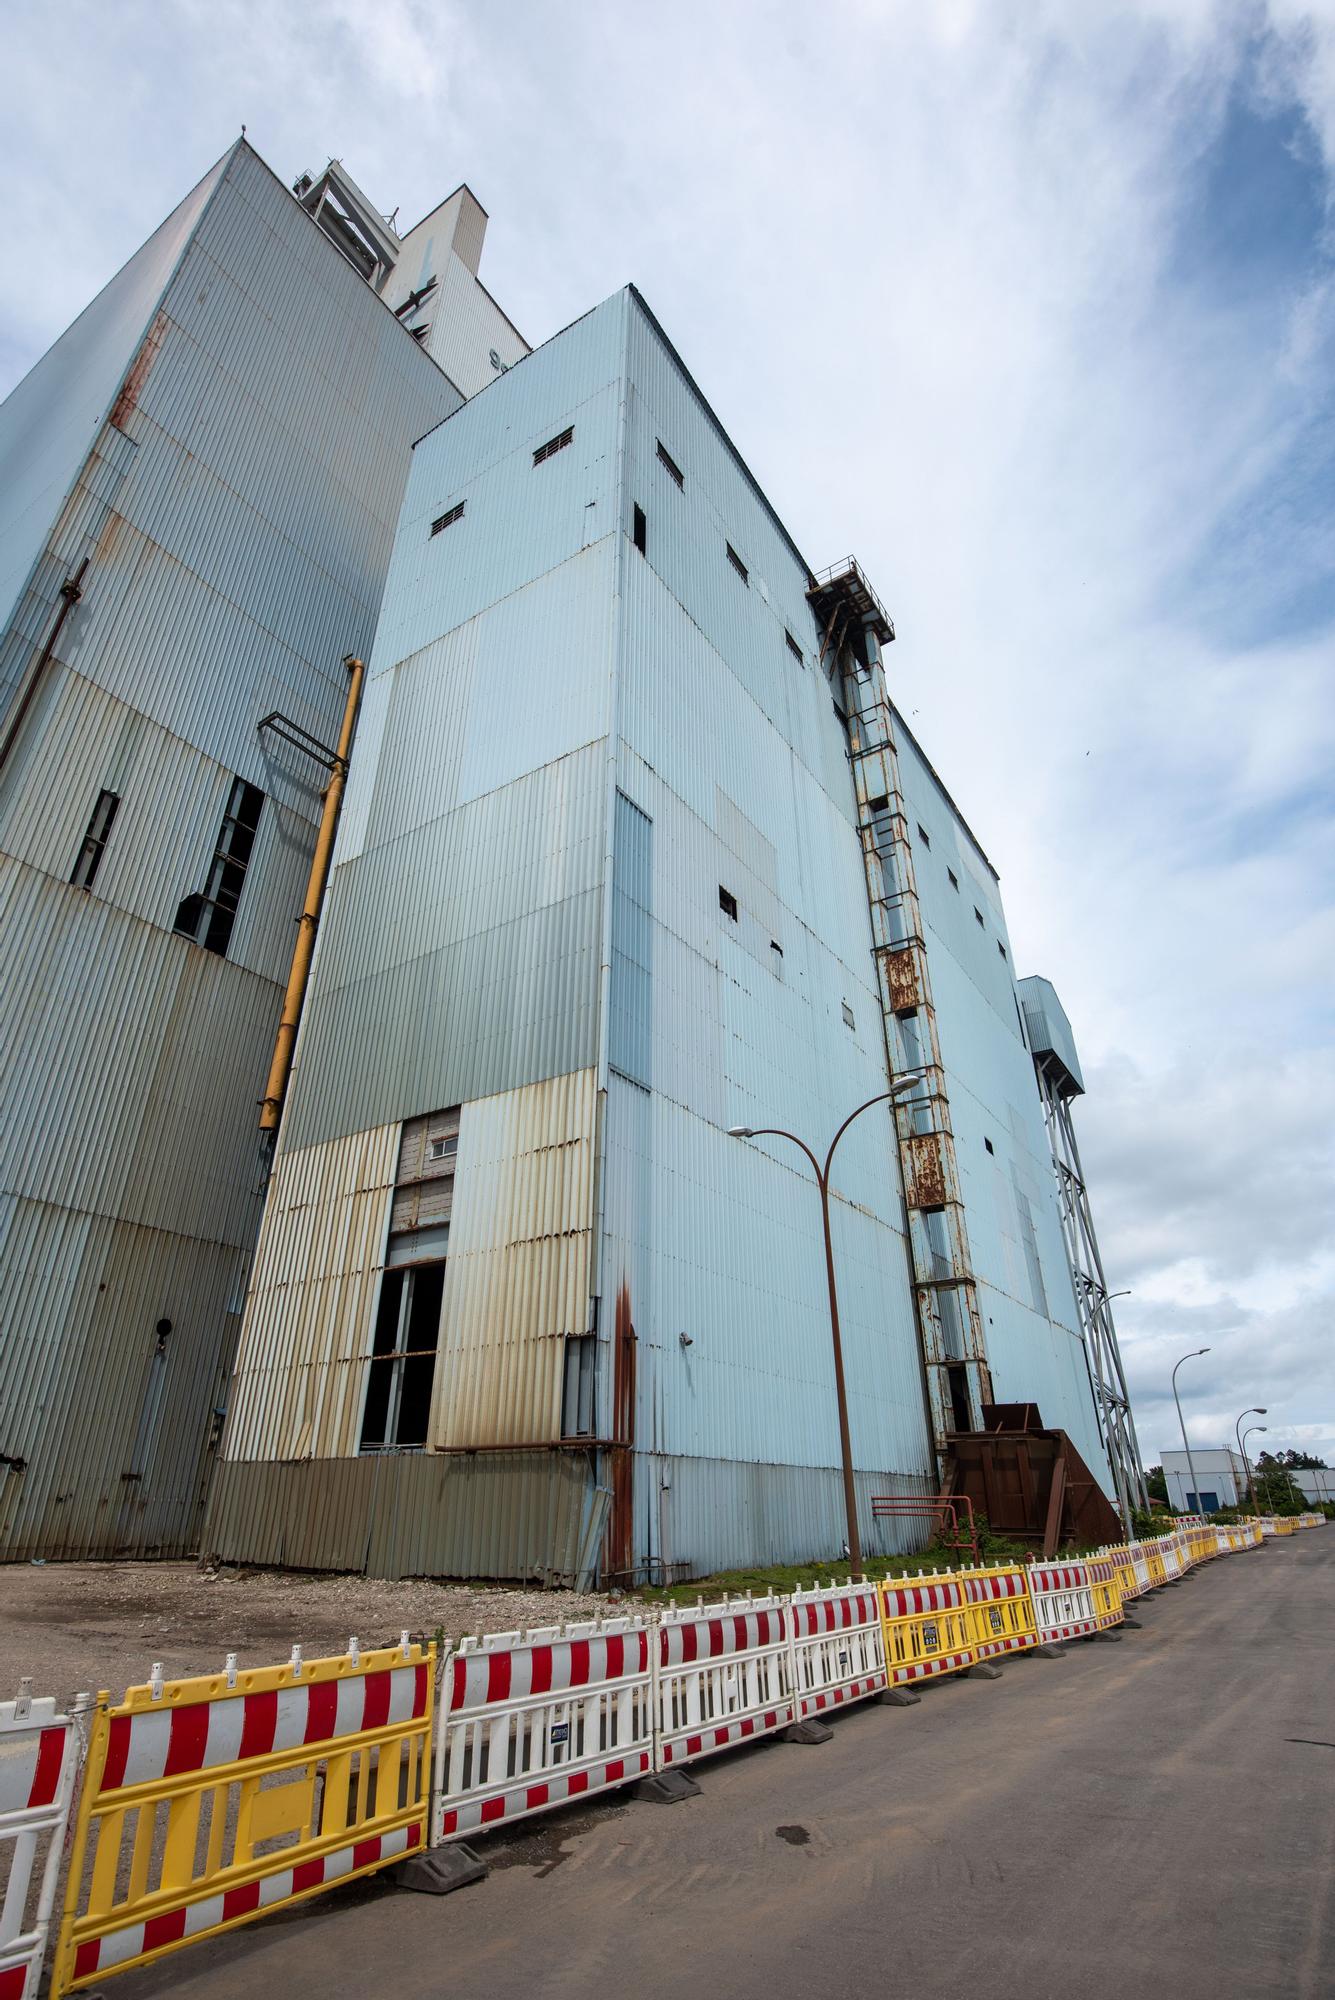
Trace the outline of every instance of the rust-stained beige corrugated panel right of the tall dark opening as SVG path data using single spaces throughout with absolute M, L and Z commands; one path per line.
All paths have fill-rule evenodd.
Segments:
M 560 1438 L 566 1336 L 588 1330 L 594 1070 L 464 1106 L 432 1444 Z

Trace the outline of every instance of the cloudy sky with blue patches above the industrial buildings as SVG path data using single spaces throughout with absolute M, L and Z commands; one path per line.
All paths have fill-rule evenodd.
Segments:
M 1335 0 L 10 8 L 0 392 L 236 136 L 636 280 L 1055 980 L 1145 1460 L 1335 1464 Z

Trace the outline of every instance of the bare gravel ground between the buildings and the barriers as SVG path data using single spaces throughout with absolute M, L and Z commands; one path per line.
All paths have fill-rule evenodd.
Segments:
M 446 1640 L 466 1632 L 552 1626 L 622 1606 L 576 1590 L 500 1584 L 386 1584 L 370 1576 L 198 1570 L 194 1562 L 50 1562 L 0 1568 L 0 1700 L 30 1674 L 34 1694 L 68 1698 L 148 1680 L 216 1674 L 228 1652 L 242 1666 L 398 1644 L 404 1628 Z

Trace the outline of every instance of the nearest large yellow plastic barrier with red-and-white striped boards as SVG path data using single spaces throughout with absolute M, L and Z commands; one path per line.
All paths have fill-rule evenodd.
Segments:
M 54 1992 L 426 1844 L 436 1648 L 98 1696 Z

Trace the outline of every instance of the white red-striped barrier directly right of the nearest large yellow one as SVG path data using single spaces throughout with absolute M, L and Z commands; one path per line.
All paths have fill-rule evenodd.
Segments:
M 442 1676 L 434 1844 L 642 1778 L 656 1640 L 638 1618 L 464 1640 Z

